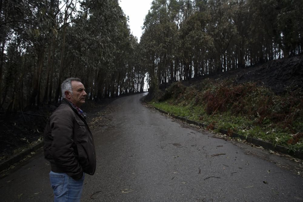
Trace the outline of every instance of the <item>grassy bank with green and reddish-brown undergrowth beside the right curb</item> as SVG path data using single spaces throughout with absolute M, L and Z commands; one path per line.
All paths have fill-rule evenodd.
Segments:
M 255 83 L 205 79 L 175 82 L 150 104 L 175 116 L 303 152 L 303 94 L 276 95 Z

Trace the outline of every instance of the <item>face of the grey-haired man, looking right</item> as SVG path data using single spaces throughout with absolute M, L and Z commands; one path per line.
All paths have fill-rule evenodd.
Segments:
M 72 91 L 73 94 L 69 93 L 70 101 L 77 107 L 80 107 L 85 103 L 85 96 L 87 95 L 84 85 L 79 81 L 72 81 Z

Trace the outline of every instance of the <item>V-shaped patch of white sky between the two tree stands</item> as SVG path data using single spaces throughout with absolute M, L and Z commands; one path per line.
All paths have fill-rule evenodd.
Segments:
M 129 28 L 131 33 L 138 38 L 142 35 L 143 22 L 145 15 L 148 14 L 148 10 L 151 8 L 152 0 L 119 0 L 119 5 L 122 8 L 126 16 L 129 16 Z

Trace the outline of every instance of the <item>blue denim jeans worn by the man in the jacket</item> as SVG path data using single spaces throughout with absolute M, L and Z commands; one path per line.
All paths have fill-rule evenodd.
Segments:
M 74 180 L 66 173 L 49 173 L 55 202 L 77 202 L 81 199 L 84 173 L 81 180 Z

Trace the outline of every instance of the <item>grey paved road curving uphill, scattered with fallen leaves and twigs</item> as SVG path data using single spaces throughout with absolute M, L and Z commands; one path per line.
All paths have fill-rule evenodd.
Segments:
M 115 100 L 113 127 L 94 131 L 97 170 L 82 201 L 303 201 L 300 165 Z M 284 168 L 282 168 L 284 167 Z M 52 201 L 42 151 L 0 180 L 1 201 Z

